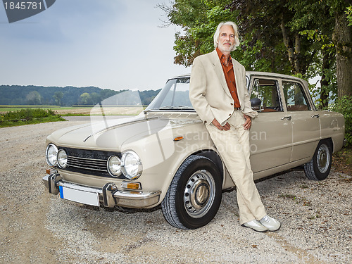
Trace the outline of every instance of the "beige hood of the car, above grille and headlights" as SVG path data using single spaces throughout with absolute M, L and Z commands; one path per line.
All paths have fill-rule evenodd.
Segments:
M 138 115 L 133 118 L 115 120 L 92 120 L 75 127 L 67 127 L 52 133 L 47 141 L 58 146 L 77 149 L 101 149 L 120 151 L 122 144 L 133 142 L 151 134 L 180 127 L 195 120 L 170 120 L 169 118 L 146 118 Z

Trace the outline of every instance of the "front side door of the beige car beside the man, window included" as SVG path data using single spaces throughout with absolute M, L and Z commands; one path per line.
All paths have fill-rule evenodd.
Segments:
M 270 77 L 253 77 L 251 99 L 260 99 L 250 132 L 251 165 L 260 172 L 290 162 L 292 148 L 291 121 L 284 112 L 279 82 Z M 258 101 L 258 100 L 257 100 Z

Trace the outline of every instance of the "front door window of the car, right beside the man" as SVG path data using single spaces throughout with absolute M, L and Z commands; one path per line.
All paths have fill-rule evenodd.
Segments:
M 279 112 L 282 111 L 282 106 L 277 93 L 277 81 L 256 79 L 253 83 L 253 89 L 251 93 L 251 99 L 258 101 L 260 99 L 260 105 L 255 103 L 252 106 L 253 110 L 258 112 Z M 252 101 L 253 101 L 252 100 Z

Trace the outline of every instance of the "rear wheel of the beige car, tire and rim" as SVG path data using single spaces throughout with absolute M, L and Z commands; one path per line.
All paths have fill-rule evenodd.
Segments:
M 319 142 L 312 160 L 304 164 L 309 180 L 325 180 L 332 165 L 332 146 L 327 140 Z

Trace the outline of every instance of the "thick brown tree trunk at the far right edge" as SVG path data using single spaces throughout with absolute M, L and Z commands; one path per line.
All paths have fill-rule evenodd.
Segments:
M 333 41 L 337 58 L 337 94 L 352 96 L 352 27 L 348 27 L 346 13 L 335 14 Z

